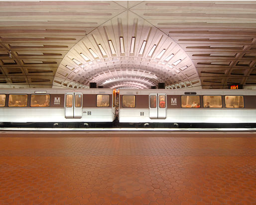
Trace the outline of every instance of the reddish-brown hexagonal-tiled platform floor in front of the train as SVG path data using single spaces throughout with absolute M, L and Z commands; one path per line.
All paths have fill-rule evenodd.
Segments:
M 35 135 L 0 133 L 0 205 L 256 204 L 256 134 Z

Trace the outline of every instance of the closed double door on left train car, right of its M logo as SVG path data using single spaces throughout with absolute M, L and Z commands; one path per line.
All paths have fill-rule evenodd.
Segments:
M 82 93 L 66 93 L 65 95 L 65 117 L 81 118 L 82 117 Z

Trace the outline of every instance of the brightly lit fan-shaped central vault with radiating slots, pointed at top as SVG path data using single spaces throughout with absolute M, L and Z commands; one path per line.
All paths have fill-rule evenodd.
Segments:
M 81 76 L 78 81 L 77 75 Z M 105 88 L 137 88 L 135 82 L 147 89 L 161 82 L 168 88 L 200 86 L 186 52 L 168 35 L 128 10 L 73 46 L 60 63 L 53 86 L 88 87 L 90 82 Z

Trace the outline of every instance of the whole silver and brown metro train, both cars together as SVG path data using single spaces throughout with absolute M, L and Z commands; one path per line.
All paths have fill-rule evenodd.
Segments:
M 0 89 L 0 126 L 256 127 L 254 90 Z

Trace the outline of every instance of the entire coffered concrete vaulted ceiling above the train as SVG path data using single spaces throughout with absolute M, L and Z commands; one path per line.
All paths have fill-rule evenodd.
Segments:
M 0 1 L 0 87 L 256 87 L 256 1 Z

